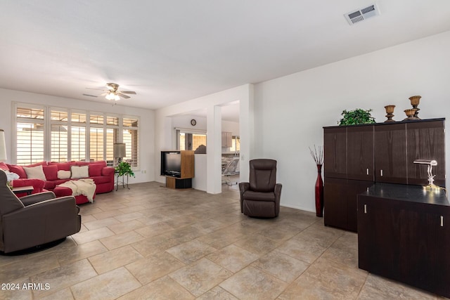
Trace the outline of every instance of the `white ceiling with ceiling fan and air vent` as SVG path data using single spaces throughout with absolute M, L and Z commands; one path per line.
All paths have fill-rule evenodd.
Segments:
M 14 0 L 0 3 L 0 87 L 158 109 L 450 30 L 449 0 Z

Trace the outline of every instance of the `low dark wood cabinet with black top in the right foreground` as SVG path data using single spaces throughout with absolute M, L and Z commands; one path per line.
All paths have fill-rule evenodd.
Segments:
M 359 268 L 449 297 L 449 252 L 443 190 L 375 183 L 359 195 Z

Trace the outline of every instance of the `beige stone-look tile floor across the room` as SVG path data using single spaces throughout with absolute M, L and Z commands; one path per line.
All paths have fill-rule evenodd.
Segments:
M 62 244 L 0 256 L 0 282 L 19 287 L 0 299 L 440 299 L 359 270 L 356 234 L 311 212 L 248 218 L 236 185 L 130 187 L 83 204 Z

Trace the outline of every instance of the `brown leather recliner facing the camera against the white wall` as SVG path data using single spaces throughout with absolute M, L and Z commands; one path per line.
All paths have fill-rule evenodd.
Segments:
M 276 183 L 276 160 L 250 160 L 250 182 L 239 183 L 240 212 L 274 218 L 280 212 L 281 183 Z

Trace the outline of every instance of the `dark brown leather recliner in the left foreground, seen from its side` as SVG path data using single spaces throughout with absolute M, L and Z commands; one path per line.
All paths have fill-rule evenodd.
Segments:
M 0 251 L 15 252 L 79 232 L 82 219 L 75 197 L 52 192 L 18 198 L 0 170 Z

